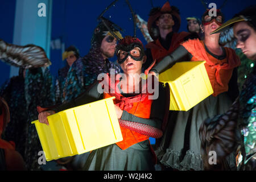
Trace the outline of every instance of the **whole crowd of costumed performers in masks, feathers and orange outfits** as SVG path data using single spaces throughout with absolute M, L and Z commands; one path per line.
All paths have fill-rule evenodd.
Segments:
M 145 21 L 126 1 L 133 16 L 131 36 L 122 35 L 122 28 L 104 18 L 115 2 L 97 18 L 89 52 L 82 56 L 76 46 L 66 48 L 65 66 L 56 77 L 49 72 L 51 61 L 42 48 L 0 39 L 0 59 L 19 67 L 19 75 L 0 88 L 0 170 L 45 170 L 38 163 L 43 149 L 31 121 L 49 125 L 50 115 L 110 97 L 123 139 L 53 160 L 56 169 L 256 170 L 255 67 L 240 80 L 245 74 L 242 61 L 256 61 L 256 5 L 226 22 L 222 7 L 215 15 L 206 9 L 201 18 L 187 17 L 188 32 L 179 32 L 180 11 L 169 2 L 153 7 Z M 146 45 L 137 38 L 136 27 Z M 110 60 L 114 56 L 117 61 Z M 187 111 L 170 110 L 172 90 L 159 81 L 159 74 L 181 61 L 202 60 L 212 94 Z M 212 151 L 214 164 L 209 162 Z

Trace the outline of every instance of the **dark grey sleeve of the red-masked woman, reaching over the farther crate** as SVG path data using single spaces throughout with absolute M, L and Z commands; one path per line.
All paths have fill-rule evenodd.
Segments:
M 167 69 L 171 68 L 175 63 L 183 60 L 183 57 L 188 56 L 190 53 L 183 46 L 179 46 L 171 55 L 164 57 L 162 61 L 160 61 L 155 67 L 153 67 L 150 71 L 155 73 L 162 73 Z

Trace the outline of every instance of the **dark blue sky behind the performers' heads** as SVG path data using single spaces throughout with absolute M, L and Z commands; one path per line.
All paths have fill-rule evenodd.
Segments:
M 19 0 L 0 0 L 0 39 L 6 42 L 13 42 L 13 27 L 15 17 L 15 4 Z M 86 55 L 90 48 L 90 38 L 92 32 L 97 25 L 97 17 L 112 1 L 110 0 L 53 0 L 52 3 L 52 39 L 61 38 L 65 42 L 66 47 L 75 45 L 80 50 L 81 56 Z M 139 14 L 144 20 L 148 19 L 148 13 L 153 6 L 163 6 L 166 0 L 130 0 L 136 14 Z M 187 22 L 185 18 L 187 16 L 201 17 L 204 13 L 204 6 L 200 0 L 193 1 L 169 1 L 171 5 L 179 8 L 181 16 L 180 31 L 187 31 Z M 209 3 L 216 3 L 217 8 L 220 7 L 225 0 L 206 1 Z M 207 5 L 208 5 L 207 4 Z M 226 20 L 232 18 L 232 16 L 238 11 L 241 11 L 249 5 L 255 4 L 254 1 L 226 1 L 226 5 L 222 8 Z M 119 0 L 114 7 L 104 15 L 114 23 L 122 27 L 125 35 L 133 35 L 133 20 L 125 0 Z M 141 32 L 137 29 L 137 36 L 144 40 Z M 63 66 L 61 61 L 61 51 L 51 50 L 51 72 L 56 75 L 57 69 Z M 9 77 L 9 65 L 0 63 L 0 84 Z

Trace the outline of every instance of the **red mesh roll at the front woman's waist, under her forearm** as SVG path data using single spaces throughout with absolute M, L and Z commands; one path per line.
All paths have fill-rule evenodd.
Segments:
M 150 125 L 132 122 L 132 121 L 126 121 L 122 119 L 118 119 L 118 121 L 120 126 L 125 127 L 129 130 L 135 131 L 139 134 L 146 135 L 148 137 L 160 138 L 163 135 L 162 130 L 152 127 Z

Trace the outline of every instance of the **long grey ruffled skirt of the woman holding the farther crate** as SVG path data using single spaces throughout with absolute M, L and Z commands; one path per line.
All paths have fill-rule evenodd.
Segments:
M 178 170 L 203 170 L 203 161 L 200 154 L 200 125 L 207 118 L 225 113 L 231 105 L 232 101 L 229 96 L 226 93 L 221 93 L 216 97 L 211 95 L 205 98 L 205 100 L 188 111 L 170 111 L 163 137 L 157 140 L 158 147 L 155 153 L 159 162 L 166 167 Z M 189 115 L 191 115 L 189 149 L 181 158 Z M 174 122 L 176 122 L 175 125 Z M 236 167 L 233 154 L 229 155 L 227 160 L 230 168 Z

